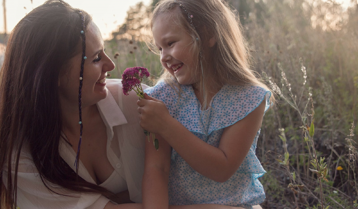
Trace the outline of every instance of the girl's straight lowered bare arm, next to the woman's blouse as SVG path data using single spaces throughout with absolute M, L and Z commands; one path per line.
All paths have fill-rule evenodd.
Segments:
M 144 174 L 142 180 L 143 208 L 168 209 L 168 179 L 171 147 L 155 134 L 159 141 L 158 151 L 154 148 L 152 135 L 145 140 Z

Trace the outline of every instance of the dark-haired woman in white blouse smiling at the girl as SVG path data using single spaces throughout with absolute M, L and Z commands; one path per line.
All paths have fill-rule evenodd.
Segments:
M 145 136 L 114 68 L 86 12 L 49 0 L 20 20 L 0 72 L 2 208 L 141 208 L 121 204 L 141 202 Z

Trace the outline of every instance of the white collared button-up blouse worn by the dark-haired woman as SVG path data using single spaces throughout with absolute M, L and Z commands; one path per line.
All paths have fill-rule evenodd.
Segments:
M 141 203 L 145 135 L 139 126 L 138 97 L 134 91 L 125 96 L 121 80 L 106 81 L 110 93 L 97 106 L 107 127 L 107 157 L 115 170 L 101 186 L 113 193 L 128 189 L 130 199 Z M 146 87 L 143 85 L 143 89 Z M 64 141 L 60 143 L 59 150 L 64 161 L 75 170 L 76 152 Z M 96 184 L 81 161 L 78 175 Z M 7 185 L 6 170 L 3 176 Z M 54 191 L 68 196 L 54 194 L 44 186 L 30 153 L 24 148 L 20 155 L 17 184 L 17 205 L 20 209 L 102 209 L 110 201 L 101 194 L 73 192 L 49 182 L 48 185 Z

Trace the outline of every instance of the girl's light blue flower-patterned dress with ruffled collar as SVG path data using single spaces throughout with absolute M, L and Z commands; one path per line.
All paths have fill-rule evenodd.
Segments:
M 271 92 L 262 87 L 224 85 L 213 97 L 210 105 L 212 108 L 202 111 L 192 86 L 180 85 L 180 88 L 182 91 L 160 81 L 144 91 L 163 101 L 173 118 L 214 147 L 219 146 L 225 127 L 244 118 L 263 100 L 266 100 L 265 112 L 270 106 Z M 265 192 L 257 178 L 266 171 L 255 155 L 259 133 L 260 130 L 241 166 L 223 183 L 199 174 L 173 149 L 169 174 L 169 204 L 215 203 L 252 209 L 252 205 L 262 203 Z

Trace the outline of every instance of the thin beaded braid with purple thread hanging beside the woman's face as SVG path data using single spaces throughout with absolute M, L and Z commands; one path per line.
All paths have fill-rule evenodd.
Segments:
M 78 87 L 78 110 L 79 110 L 79 125 L 80 125 L 80 135 L 79 135 L 79 141 L 78 141 L 78 148 L 77 148 L 77 155 L 76 160 L 74 161 L 74 166 L 76 167 L 76 173 L 78 173 L 78 162 L 79 162 L 79 151 L 81 148 L 81 141 L 82 141 L 82 129 L 83 129 L 83 123 L 82 123 L 82 82 L 83 82 L 83 69 L 84 69 L 84 57 L 86 56 L 86 27 L 84 26 L 84 16 L 82 12 L 79 12 L 82 19 L 82 29 L 83 33 L 81 33 L 81 39 L 82 39 L 82 61 L 81 61 L 81 71 L 79 72 L 79 77 L 82 79 L 79 80 L 79 87 Z

